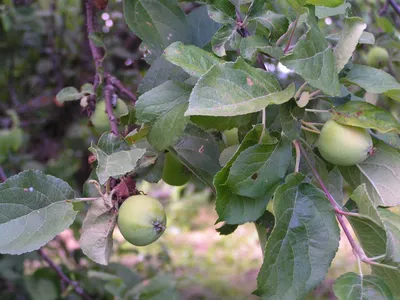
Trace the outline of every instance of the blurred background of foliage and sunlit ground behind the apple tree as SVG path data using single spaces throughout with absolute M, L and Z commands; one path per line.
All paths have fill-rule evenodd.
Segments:
M 246 1 L 244 1 L 246 2 Z M 271 1 L 277 11 L 283 1 Z M 388 50 L 386 71 L 400 80 L 400 17 L 393 10 L 379 15 L 384 1 L 348 1 L 352 15 L 362 17 L 375 45 Z M 182 2 L 189 12 L 196 3 Z M 85 31 L 81 0 L 3 0 L 0 4 L 0 164 L 7 176 L 24 169 L 39 169 L 67 181 L 82 194 L 92 172 L 88 147 L 97 132 L 76 102 L 57 104 L 55 95 L 65 86 L 91 82 L 94 65 Z M 104 65 L 131 90 L 148 69 L 140 40 L 126 26 L 120 0 L 110 1 L 97 14 L 106 46 Z M 320 20 L 328 34 L 342 27 L 340 17 Z M 366 64 L 371 45 L 358 46 L 354 61 Z M 234 57 L 236 53 L 229 53 Z M 283 85 L 298 78 L 274 60 L 266 61 Z M 355 96 L 390 109 L 399 118 L 398 103 L 383 95 Z M 168 230 L 145 248 L 136 248 L 115 234 L 113 263 L 107 267 L 89 261 L 77 240 L 87 205 L 78 203 L 80 215 L 47 249 L 73 280 L 80 281 L 96 299 L 252 299 L 262 263 L 257 233 L 252 224 L 232 235 L 215 230 L 217 219 L 210 190 L 193 180 L 184 187 L 164 183 L 139 185 L 167 207 Z M 340 251 L 324 283 L 309 299 L 334 299 L 333 278 L 355 271 L 351 249 L 342 239 Z M 368 272 L 368 270 L 366 270 Z M 61 292 L 63 291 L 63 293 Z M 136 298 L 135 298 L 136 297 Z M 37 253 L 0 256 L 1 299 L 78 299 L 60 284 L 54 270 Z M 114 298 L 115 299 L 115 298 Z M 255 299 L 255 297 L 254 297 Z

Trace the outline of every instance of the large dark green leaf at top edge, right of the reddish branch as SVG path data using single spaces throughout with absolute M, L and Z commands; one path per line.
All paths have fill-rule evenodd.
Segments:
M 191 41 L 186 16 L 175 0 L 124 0 L 124 15 L 129 28 L 150 49 Z

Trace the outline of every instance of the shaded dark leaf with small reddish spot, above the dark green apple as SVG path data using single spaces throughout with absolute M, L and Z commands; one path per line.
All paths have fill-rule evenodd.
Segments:
M 213 187 L 213 178 L 221 167 L 218 162 L 219 148 L 211 134 L 189 123 L 169 151 L 174 152 L 201 181 Z

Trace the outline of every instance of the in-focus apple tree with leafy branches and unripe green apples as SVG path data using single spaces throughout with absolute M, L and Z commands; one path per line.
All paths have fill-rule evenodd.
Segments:
M 197 178 L 215 195 L 221 235 L 256 227 L 263 263 L 254 295 L 305 299 L 325 278 L 342 231 L 359 272 L 338 277 L 335 296 L 400 299 L 400 4 L 377 2 L 123 0 L 125 26 L 149 65 L 131 90 L 113 74 L 96 26 L 107 1 L 85 0 L 80 34 L 95 72 L 82 86 L 59 86 L 55 102 L 80 107 L 101 135 L 87 145 L 91 192 L 78 196 L 39 170 L 6 176 L 0 168 L 0 253 L 38 250 L 74 293 L 100 297 L 41 247 L 88 202 L 80 246 L 107 265 L 117 225 L 138 246 L 168 230 L 162 205 L 140 195 L 137 182 Z M 3 32 L 14 9 L 3 5 Z M 7 114 L 0 162 L 21 147 L 18 109 Z M 151 285 L 169 288 L 162 278 Z M 169 292 L 163 299 L 175 297 Z

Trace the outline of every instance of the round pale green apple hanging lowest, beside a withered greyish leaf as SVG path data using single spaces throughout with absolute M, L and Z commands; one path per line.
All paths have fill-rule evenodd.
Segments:
M 164 233 L 167 216 L 157 200 L 145 195 L 131 196 L 118 211 L 118 227 L 132 245 L 146 246 Z

